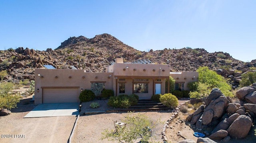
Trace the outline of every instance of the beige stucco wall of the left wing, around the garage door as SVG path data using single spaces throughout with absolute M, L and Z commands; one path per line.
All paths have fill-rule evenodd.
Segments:
M 55 78 L 56 76 L 58 78 Z M 78 93 L 80 93 L 81 88 L 83 90 L 90 90 L 91 82 L 106 82 L 105 88 L 113 90 L 113 77 L 113 73 L 107 72 L 85 72 L 84 70 L 71 69 L 35 69 L 35 104 L 42 103 L 43 87 L 78 87 Z M 37 92 L 37 89 L 39 89 L 39 92 Z

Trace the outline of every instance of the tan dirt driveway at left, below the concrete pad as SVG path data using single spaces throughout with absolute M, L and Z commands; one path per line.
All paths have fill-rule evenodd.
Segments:
M 31 100 L 23 98 L 12 114 L 0 117 L 0 143 L 66 143 L 76 117 L 23 118 L 35 107 Z

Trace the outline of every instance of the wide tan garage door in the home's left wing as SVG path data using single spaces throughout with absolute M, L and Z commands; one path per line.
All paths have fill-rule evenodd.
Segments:
M 43 103 L 78 102 L 78 88 L 44 88 Z

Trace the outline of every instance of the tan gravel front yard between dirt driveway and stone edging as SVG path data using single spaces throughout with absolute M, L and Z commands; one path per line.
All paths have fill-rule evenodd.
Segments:
M 184 103 L 188 99 L 179 100 L 179 104 Z M 99 102 L 99 108 L 90 108 L 91 102 Z M 72 142 L 74 143 L 118 143 L 113 141 L 108 141 L 108 139 L 101 140 L 102 132 L 105 129 L 115 129 L 114 121 L 122 121 L 128 116 L 128 113 L 103 113 L 94 115 L 82 115 L 87 112 L 99 112 L 106 110 L 118 110 L 118 108 L 110 108 L 107 105 L 108 100 L 93 100 L 91 102 L 83 102 L 81 108 L 81 116 L 78 118 L 76 129 L 74 131 L 74 136 L 72 137 Z M 136 112 L 134 114 L 144 114 L 151 121 L 156 123 L 156 127 L 153 129 L 153 137 L 151 138 L 153 142 L 162 143 L 162 127 L 164 123 L 170 119 L 173 112 L 172 111 L 158 111 L 158 112 Z

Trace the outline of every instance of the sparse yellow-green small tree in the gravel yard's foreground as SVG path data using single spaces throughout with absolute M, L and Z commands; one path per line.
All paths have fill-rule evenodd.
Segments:
M 124 122 L 128 124 L 129 128 L 118 127 L 118 131 L 115 133 L 114 130 L 106 129 L 102 132 L 101 139 L 117 140 L 120 143 L 134 143 L 137 139 L 140 139 L 140 143 L 148 143 L 150 138 L 153 137 L 153 129 L 159 120 L 153 123 L 144 114 L 134 115 L 133 112 L 130 112 Z

